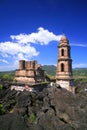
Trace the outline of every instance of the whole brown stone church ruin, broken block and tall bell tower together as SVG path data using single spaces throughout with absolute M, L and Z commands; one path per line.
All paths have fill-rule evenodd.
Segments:
M 46 75 L 37 61 L 20 60 L 19 69 L 15 73 L 15 79 L 20 83 L 36 84 L 45 82 Z M 74 93 L 70 45 L 65 35 L 61 37 L 58 45 L 56 83 Z

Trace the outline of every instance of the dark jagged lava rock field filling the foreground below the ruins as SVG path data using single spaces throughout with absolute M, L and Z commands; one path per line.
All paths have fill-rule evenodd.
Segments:
M 5 88 L 0 91 L 6 110 L 0 116 L 0 129 L 87 130 L 87 93 L 83 93 L 72 94 L 55 84 L 32 93 Z

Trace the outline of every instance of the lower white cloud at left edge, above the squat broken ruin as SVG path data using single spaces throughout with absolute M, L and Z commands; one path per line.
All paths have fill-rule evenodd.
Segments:
M 20 45 L 14 42 L 2 42 L 0 43 L 0 52 L 3 57 L 16 57 L 18 60 L 30 59 L 33 56 L 37 56 L 39 52 L 30 44 Z

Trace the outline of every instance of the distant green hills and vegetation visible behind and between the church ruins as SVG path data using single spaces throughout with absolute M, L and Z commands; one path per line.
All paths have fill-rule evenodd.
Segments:
M 43 65 L 42 69 L 45 70 L 48 78 L 55 79 L 56 66 Z M 15 76 L 15 71 L 0 72 L 0 78 L 11 80 L 15 83 L 14 76 Z M 87 82 L 87 68 L 73 69 L 73 78 L 74 80 L 81 80 L 83 82 Z

